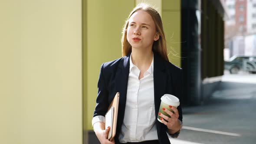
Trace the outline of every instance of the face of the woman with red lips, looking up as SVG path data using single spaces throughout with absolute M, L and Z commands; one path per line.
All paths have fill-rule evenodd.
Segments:
M 150 14 L 138 10 L 131 15 L 127 28 L 127 40 L 132 48 L 152 49 L 153 42 L 158 39 L 159 35 Z

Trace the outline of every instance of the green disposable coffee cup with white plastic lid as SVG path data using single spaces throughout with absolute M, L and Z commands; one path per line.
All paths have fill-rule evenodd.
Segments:
M 161 97 L 161 104 L 160 104 L 160 108 L 159 108 L 159 112 L 161 112 L 163 115 L 166 115 L 167 117 L 171 118 L 170 115 L 168 115 L 166 112 L 164 112 L 163 108 L 168 109 L 169 111 L 172 111 L 171 108 L 169 107 L 169 105 L 177 108 L 180 105 L 180 100 L 179 98 L 177 98 L 174 95 L 170 95 L 170 94 L 165 94 Z M 174 112 L 174 111 L 172 111 Z M 158 115 L 158 121 L 160 121 L 161 123 L 163 123 L 160 120 L 160 115 Z

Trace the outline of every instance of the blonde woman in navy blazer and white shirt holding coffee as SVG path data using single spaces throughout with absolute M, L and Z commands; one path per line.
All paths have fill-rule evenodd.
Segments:
M 181 106 L 158 113 L 161 96 L 181 98 L 182 69 L 167 57 L 166 40 L 159 13 L 146 4 L 131 11 L 123 28 L 120 59 L 103 63 L 92 125 L 102 144 L 170 144 L 182 125 Z M 120 93 L 114 141 L 107 139 L 104 116 L 116 92 Z M 171 106 L 170 106 L 171 107 Z M 161 116 L 161 122 L 157 116 Z M 166 120 L 166 121 L 164 121 Z

